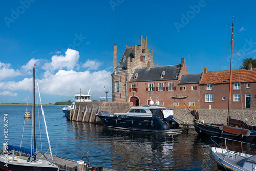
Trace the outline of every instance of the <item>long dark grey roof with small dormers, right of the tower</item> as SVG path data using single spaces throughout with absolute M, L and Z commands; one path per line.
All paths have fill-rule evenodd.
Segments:
M 169 65 L 169 66 L 159 66 L 135 69 L 130 82 L 138 81 L 158 81 L 158 80 L 172 80 L 178 79 L 181 65 Z M 162 76 L 163 71 L 165 71 L 165 76 Z M 134 79 L 135 74 L 138 74 L 137 78 Z

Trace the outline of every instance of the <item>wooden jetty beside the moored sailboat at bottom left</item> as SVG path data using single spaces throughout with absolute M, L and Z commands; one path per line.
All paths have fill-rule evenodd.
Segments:
M 14 150 L 9 151 L 9 153 L 11 153 L 11 154 L 14 153 L 16 155 L 19 155 L 19 152 L 14 151 Z M 20 155 L 21 156 L 29 156 L 28 154 L 25 154 L 25 153 L 20 153 Z M 43 160 L 49 160 L 50 161 L 51 156 L 50 156 L 50 154 L 44 154 L 44 153 L 41 153 L 41 152 L 37 152 L 37 159 L 43 159 Z M 55 155 L 55 156 L 53 156 L 53 163 L 56 164 L 60 169 L 64 169 L 65 171 L 66 170 L 79 171 L 77 169 L 78 161 L 75 161 L 75 160 L 66 159 L 66 158 L 59 157 L 59 156 Z M 92 166 L 89 165 L 87 170 L 93 170 Z M 112 169 L 104 168 L 103 170 L 110 171 Z

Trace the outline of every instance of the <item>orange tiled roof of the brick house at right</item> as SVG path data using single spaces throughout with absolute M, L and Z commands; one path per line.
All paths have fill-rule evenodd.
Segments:
M 208 71 L 203 75 L 200 84 L 229 83 L 230 71 Z M 256 82 L 256 68 L 232 70 L 232 82 Z

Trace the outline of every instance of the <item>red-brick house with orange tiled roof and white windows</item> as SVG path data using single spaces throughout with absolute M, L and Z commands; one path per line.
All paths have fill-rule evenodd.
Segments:
M 200 82 L 201 108 L 227 109 L 230 71 L 204 70 Z M 232 70 L 231 108 L 254 108 L 256 104 L 256 68 Z

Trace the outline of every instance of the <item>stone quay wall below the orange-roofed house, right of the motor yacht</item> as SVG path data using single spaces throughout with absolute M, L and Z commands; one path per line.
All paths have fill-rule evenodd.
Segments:
M 190 109 L 192 110 L 192 109 Z M 227 123 L 227 110 L 222 109 L 196 109 L 199 113 L 199 122 L 204 123 L 220 123 L 226 125 Z M 177 118 L 181 124 L 192 124 L 193 118 L 188 109 L 175 108 L 174 117 Z M 248 125 L 256 125 L 256 110 L 231 110 L 230 117 L 232 119 L 238 119 L 245 121 L 248 119 Z

